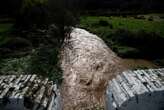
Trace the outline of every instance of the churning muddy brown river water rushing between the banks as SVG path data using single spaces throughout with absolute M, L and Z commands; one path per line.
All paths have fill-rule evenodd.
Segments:
M 107 81 L 121 71 L 120 59 L 94 34 L 73 28 L 61 52 L 64 110 L 104 105 Z

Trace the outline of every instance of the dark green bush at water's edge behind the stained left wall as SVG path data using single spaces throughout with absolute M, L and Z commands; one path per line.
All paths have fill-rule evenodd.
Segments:
M 49 77 L 57 84 L 62 82 L 62 71 L 59 64 L 59 50 L 53 47 L 42 46 L 32 57 L 29 72 Z

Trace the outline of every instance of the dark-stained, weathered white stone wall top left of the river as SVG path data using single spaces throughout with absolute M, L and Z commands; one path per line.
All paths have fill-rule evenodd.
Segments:
M 58 90 L 37 75 L 0 76 L 0 110 L 60 110 Z

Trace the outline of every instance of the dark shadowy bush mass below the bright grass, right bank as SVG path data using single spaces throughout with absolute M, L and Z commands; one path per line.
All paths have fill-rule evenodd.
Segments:
M 161 51 L 164 49 L 164 38 L 154 32 L 148 33 L 143 30 L 131 32 L 119 29 L 114 32 L 111 40 L 117 45 L 136 48 L 140 51 L 140 54 L 137 54 L 139 58 L 154 59 L 164 56 L 164 52 Z

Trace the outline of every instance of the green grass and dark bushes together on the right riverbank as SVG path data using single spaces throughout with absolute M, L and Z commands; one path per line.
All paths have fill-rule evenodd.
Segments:
M 121 57 L 157 59 L 163 57 L 164 21 L 146 18 L 83 16 L 80 27 L 102 37 Z

